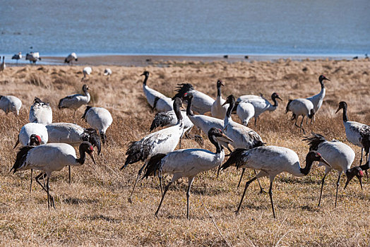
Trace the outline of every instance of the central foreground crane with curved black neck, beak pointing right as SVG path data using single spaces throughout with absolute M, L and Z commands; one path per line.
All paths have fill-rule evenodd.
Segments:
M 220 166 L 225 158 L 223 147 L 218 142 L 217 138 L 225 140 L 232 140 L 222 133 L 220 128 L 210 128 L 208 131 L 208 138 L 210 142 L 215 145 L 216 152 L 203 149 L 181 149 L 166 154 L 158 154 L 152 157 L 148 163 L 145 174 L 143 177 L 158 174 L 161 179 L 162 174 L 173 174 L 171 181 L 165 187 L 160 205 L 155 212 L 155 216 L 160 211 L 163 199 L 172 183 L 180 178 L 188 178 L 188 188 L 186 190 L 186 218 L 189 219 L 189 197 L 191 184 L 196 175 L 204 171 L 209 171 L 215 167 Z

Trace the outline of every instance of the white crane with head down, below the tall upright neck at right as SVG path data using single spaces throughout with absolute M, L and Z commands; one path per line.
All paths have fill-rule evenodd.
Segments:
M 307 116 L 306 124 L 308 124 L 308 119 L 315 119 L 315 109 L 314 104 L 312 104 L 311 101 L 306 99 L 296 99 L 296 100 L 289 100 L 287 107 L 285 109 L 285 114 L 287 112 L 292 112 L 292 119 L 295 119 L 294 125 L 298 128 L 302 129 L 303 133 L 306 134 L 306 131 L 304 131 L 304 128 L 302 127 L 303 119 L 305 116 Z M 300 126 L 297 125 L 297 121 L 299 116 L 302 116 L 302 121 Z

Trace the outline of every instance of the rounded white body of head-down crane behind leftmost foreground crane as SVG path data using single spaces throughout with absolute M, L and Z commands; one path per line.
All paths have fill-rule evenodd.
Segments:
M 20 128 L 18 134 L 18 141 L 20 145 L 26 146 L 30 145 L 31 135 L 38 135 L 41 138 L 40 144 L 46 144 L 49 140 L 49 135 L 47 134 L 47 128 L 42 123 L 26 123 L 22 128 Z

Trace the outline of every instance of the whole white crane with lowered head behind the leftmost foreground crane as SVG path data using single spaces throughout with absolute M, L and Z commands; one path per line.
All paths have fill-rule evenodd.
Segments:
M 47 128 L 44 126 L 44 124 L 26 123 L 22 128 L 20 128 L 18 139 L 13 149 L 17 147 L 18 143 L 20 143 L 20 145 L 23 147 L 27 145 L 38 146 L 46 144 L 48 140 L 49 136 L 47 135 Z M 30 191 L 32 190 L 32 174 L 33 171 L 31 169 Z

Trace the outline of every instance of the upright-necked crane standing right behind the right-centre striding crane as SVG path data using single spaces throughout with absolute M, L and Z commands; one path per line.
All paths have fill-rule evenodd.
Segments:
M 232 120 L 232 109 L 234 109 L 235 107 L 234 95 L 229 95 L 224 104 L 229 104 L 229 108 L 227 109 L 227 112 L 226 112 L 223 130 L 225 134 L 229 136 L 229 138 L 232 138 L 232 140 L 234 140 L 234 142 L 232 142 L 231 145 L 234 148 L 245 148 L 245 149 L 251 149 L 253 147 L 263 146 L 265 143 L 263 143 L 261 136 L 258 135 L 256 131 L 253 131 L 251 128 L 248 128 L 240 123 L 235 123 Z M 245 169 L 242 169 L 237 188 L 239 188 L 244 171 Z M 260 189 L 262 193 L 263 188 L 259 180 L 258 180 L 258 184 L 260 185 Z

